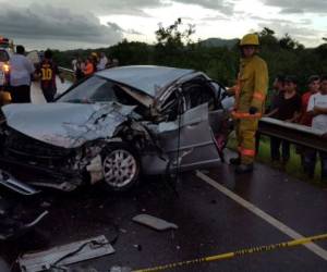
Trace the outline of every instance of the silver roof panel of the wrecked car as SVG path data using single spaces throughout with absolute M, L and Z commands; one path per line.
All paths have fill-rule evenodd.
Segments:
M 194 72 L 194 70 L 167 66 L 131 65 L 107 69 L 96 74 L 156 97 L 173 82 Z

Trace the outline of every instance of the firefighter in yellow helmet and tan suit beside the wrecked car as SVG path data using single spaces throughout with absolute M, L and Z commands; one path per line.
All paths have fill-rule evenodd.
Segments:
M 237 165 L 235 172 L 239 174 L 253 171 L 255 133 L 268 87 L 267 64 L 256 54 L 258 46 L 256 34 L 247 34 L 240 41 L 242 58 L 238 84 L 233 88 L 235 103 L 232 111 L 239 156 L 230 160 L 230 164 Z

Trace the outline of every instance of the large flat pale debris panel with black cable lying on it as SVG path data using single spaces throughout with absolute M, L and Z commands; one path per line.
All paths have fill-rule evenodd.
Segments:
M 19 258 L 22 272 L 38 272 L 113 254 L 114 249 L 101 235 L 46 251 L 26 254 Z

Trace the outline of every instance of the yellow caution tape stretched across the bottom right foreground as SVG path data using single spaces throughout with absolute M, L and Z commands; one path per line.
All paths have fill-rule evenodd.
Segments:
M 311 236 L 311 237 L 303 237 L 301 239 L 294 239 L 294 240 L 283 242 L 283 243 L 279 243 L 279 244 L 272 244 L 272 245 L 268 245 L 268 246 L 251 247 L 251 248 L 237 250 L 233 252 L 203 257 L 203 258 L 197 258 L 197 259 L 187 260 L 187 261 L 172 262 L 172 263 L 162 264 L 162 265 L 158 265 L 158 267 L 154 267 L 154 268 L 133 270 L 132 272 L 162 271 L 162 270 L 174 269 L 174 268 L 184 267 L 184 265 L 198 264 L 202 262 L 219 261 L 219 260 L 235 258 L 235 257 L 240 257 L 240 256 L 244 256 L 244 255 L 271 251 L 271 250 L 276 250 L 279 248 L 294 247 L 294 246 L 300 246 L 303 244 L 307 244 L 307 243 L 315 242 L 315 240 L 322 240 L 322 239 L 327 239 L 327 234 L 320 234 L 320 235 Z

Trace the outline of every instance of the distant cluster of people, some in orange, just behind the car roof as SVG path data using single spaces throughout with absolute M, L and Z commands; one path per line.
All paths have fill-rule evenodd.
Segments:
M 76 57 L 72 60 L 72 67 L 75 75 L 75 81 L 80 81 L 85 76 L 89 76 L 97 71 L 101 71 L 108 67 L 118 66 L 117 59 L 107 58 L 105 52 L 93 52 L 86 59 Z

